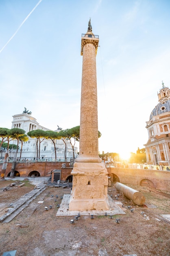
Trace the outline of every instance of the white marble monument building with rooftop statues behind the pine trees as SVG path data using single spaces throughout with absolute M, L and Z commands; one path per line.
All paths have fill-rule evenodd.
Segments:
M 28 113 L 22 113 L 18 115 L 13 115 L 13 121 L 11 128 L 20 128 L 25 130 L 26 134 L 32 130 L 50 130 L 46 127 L 41 126 L 37 120 Z M 55 130 L 59 132 L 58 130 Z M 30 138 L 26 142 L 23 142 L 22 146 L 22 155 L 21 159 L 28 159 L 33 160 L 37 157 L 36 152 L 36 138 Z M 73 150 L 69 140 L 66 140 L 66 157 L 67 161 L 70 161 L 73 157 Z M 16 140 L 11 141 L 11 144 L 17 144 Z M 49 161 L 55 160 L 55 151 L 54 151 L 54 144 L 50 139 L 44 139 L 40 144 L 40 159 L 39 160 L 46 160 Z M 55 140 L 56 146 L 56 153 L 57 153 L 57 161 L 65 161 L 65 143 L 61 139 Z M 17 157 L 20 158 L 20 150 L 21 150 L 21 142 L 19 142 L 19 150 Z M 15 150 L 12 150 L 10 153 L 10 157 L 12 158 L 15 154 Z M 77 147 L 74 147 L 74 154 L 75 157 L 77 156 Z

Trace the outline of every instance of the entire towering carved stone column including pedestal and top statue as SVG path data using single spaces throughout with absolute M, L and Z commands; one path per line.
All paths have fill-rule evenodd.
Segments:
M 81 38 L 83 55 L 81 83 L 80 148 L 76 158 L 70 211 L 108 210 L 108 176 L 105 164 L 98 155 L 98 109 L 96 53 L 99 37 L 92 33 L 89 20 L 86 34 Z

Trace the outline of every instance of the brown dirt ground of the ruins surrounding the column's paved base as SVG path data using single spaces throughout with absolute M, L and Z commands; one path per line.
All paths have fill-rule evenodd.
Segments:
M 9 180 L 0 181 L 0 216 L 9 204 L 35 187 L 30 182 L 20 188 L 9 187 L 10 183 Z M 2 191 L 4 186 L 9 190 Z M 47 187 L 11 222 L 0 223 L 0 256 L 12 250 L 17 250 L 15 256 L 170 256 L 170 221 L 161 216 L 170 214 L 170 192 L 159 191 L 166 197 L 149 188 L 131 187 L 144 194 L 148 207 L 132 205 L 120 195 L 126 215 L 113 216 L 113 219 L 110 216 L 94 216 L 94 219 L 81 216 L 75 224 L 70 223 L 72 217 L 56 217 L 61 196 L 70 194 L 71 188 Z M 114 184 L 108 187 L 109 195 L 114 197 L 116 193 Z M 39 204 L 39 201 L 44 202 Z M 49 205 L 52 209 L 46 211 L 44 207 Z

